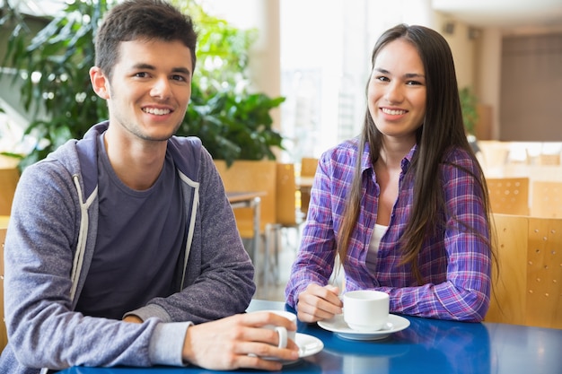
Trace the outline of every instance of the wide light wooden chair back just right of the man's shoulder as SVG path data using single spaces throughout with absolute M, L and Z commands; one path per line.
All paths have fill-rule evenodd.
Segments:
M 224 160 L 215 160 L 215 166 L 223 179 L 227 192 L 265 192 L 259 204 L 259 231 L 264 233 L 266 226 L 277 220 L 277 162 L 276 161 L 248 161 L 237 160 L 226 166 Z M 251 208 L 234 210 L 236 223 L 242 238 L 252 238 L 253 212 Z

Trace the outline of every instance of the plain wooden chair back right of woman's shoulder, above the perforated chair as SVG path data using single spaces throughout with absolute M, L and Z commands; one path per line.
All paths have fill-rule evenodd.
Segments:
M 486 178 L 492 212 L 529 214 L 529 178 Z

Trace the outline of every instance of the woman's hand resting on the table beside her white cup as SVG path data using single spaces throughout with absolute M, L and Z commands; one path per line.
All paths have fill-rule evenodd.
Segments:
M 297 317 L 303 322 L 316 322 L 343 313 L 343 302 L 338 298 L 339 288 L 311 283 L 301 292 L 296 304 Z

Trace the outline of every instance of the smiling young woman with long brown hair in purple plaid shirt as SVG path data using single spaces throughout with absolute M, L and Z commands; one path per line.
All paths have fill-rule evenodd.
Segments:
M 362 134 L 321 156 L 285 296 L 300 320 L 342 312 L 329 278 L 391 313 L 480 321 L 491 289 L 487 187 L 461 117 L 451 49 L 398 25 L 373 49 Z

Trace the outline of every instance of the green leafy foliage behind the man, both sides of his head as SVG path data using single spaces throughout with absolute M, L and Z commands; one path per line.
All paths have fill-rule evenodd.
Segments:
M 272 128 L 269 111 L 285 99 L 247 88 L 248 50 L 257 31 L 236 29 L 194 1 L 177 3 L 192 14 L 199 34 L 191 103 L 178 134 L 197 135 L 215 159 L 229 165 L 236 159 L 274 160 L 272 149 L 282 148 L 283 139 Z M 23 78 L 24 108 L 34 115 L 26 135 L 38 139 L 22 168 L 108 117 L 105 101 L 92 91 L 88 70 L 94 64 L 93 36 L 111 4 L 67 2 L 65 11 L 35 36 L 25 32 L 29 29 L 22 17 L 12 18 L 2 64 L 22 72 L 13 79 Z

